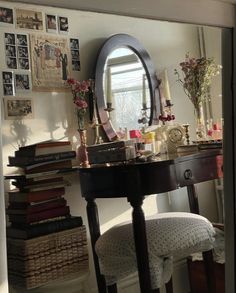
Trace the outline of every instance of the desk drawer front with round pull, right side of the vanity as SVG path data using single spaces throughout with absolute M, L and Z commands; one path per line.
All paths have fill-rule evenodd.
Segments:
M 223 177 L 223 156 L 186 160 L 176 166 L 179 187 Z

